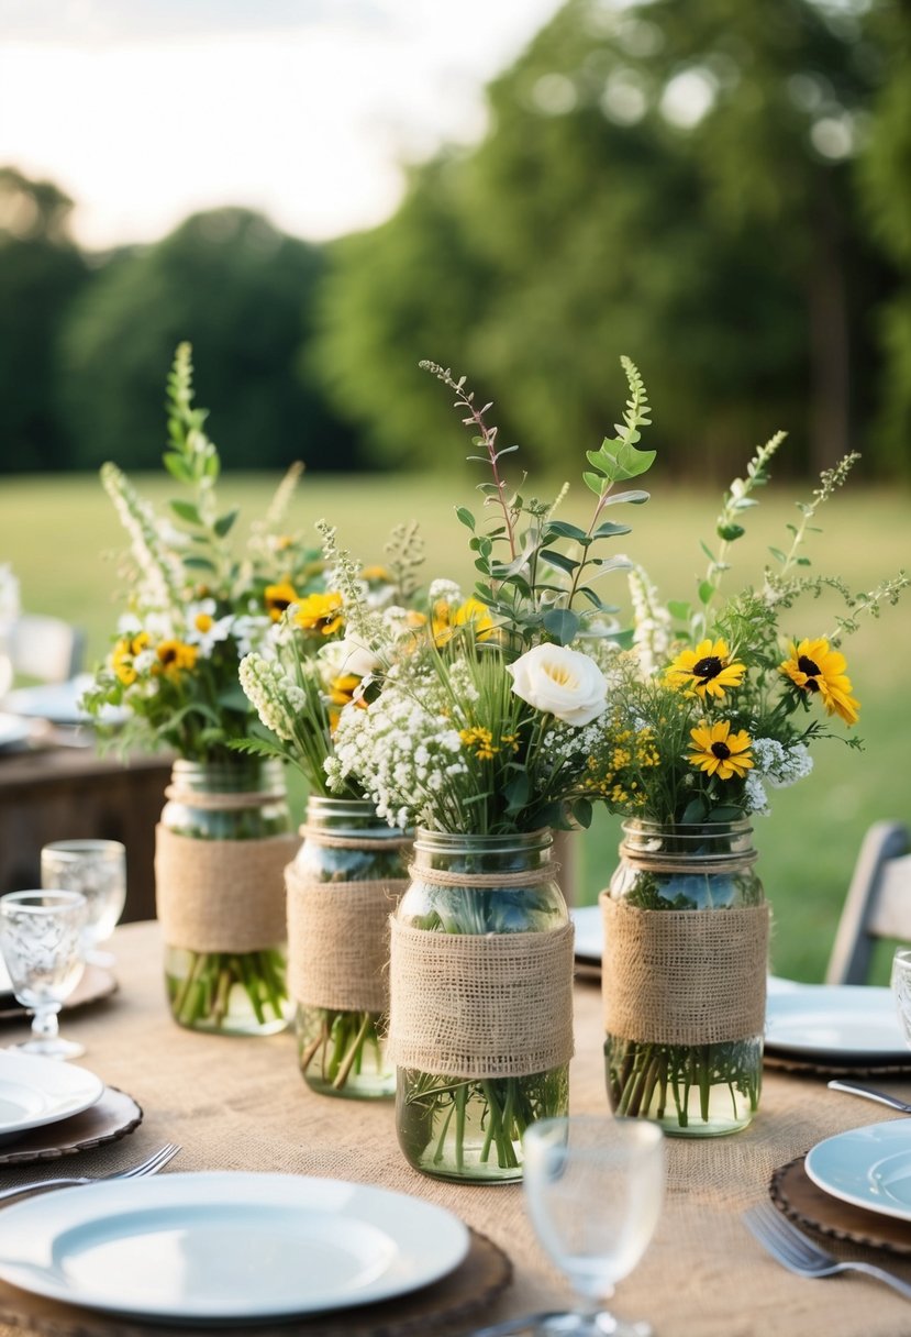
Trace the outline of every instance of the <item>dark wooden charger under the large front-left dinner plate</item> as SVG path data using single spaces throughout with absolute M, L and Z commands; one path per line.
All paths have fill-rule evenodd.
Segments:
M 506 1254 L 486 1235 L 470 1231 L 469 1253 L 456 1271 L 421 1290 L 378 1305 L 342 1309 L 282 1322 L 194 1325 L 152 1324 L 43 1300 L 0 1281 L 0 1322 L 28 1328 L 43 1337 L 200 1337 L 231 1332 L 238 1337 L 418 1337 L 445 1329 L 489 1305 L 510 1284 Z

